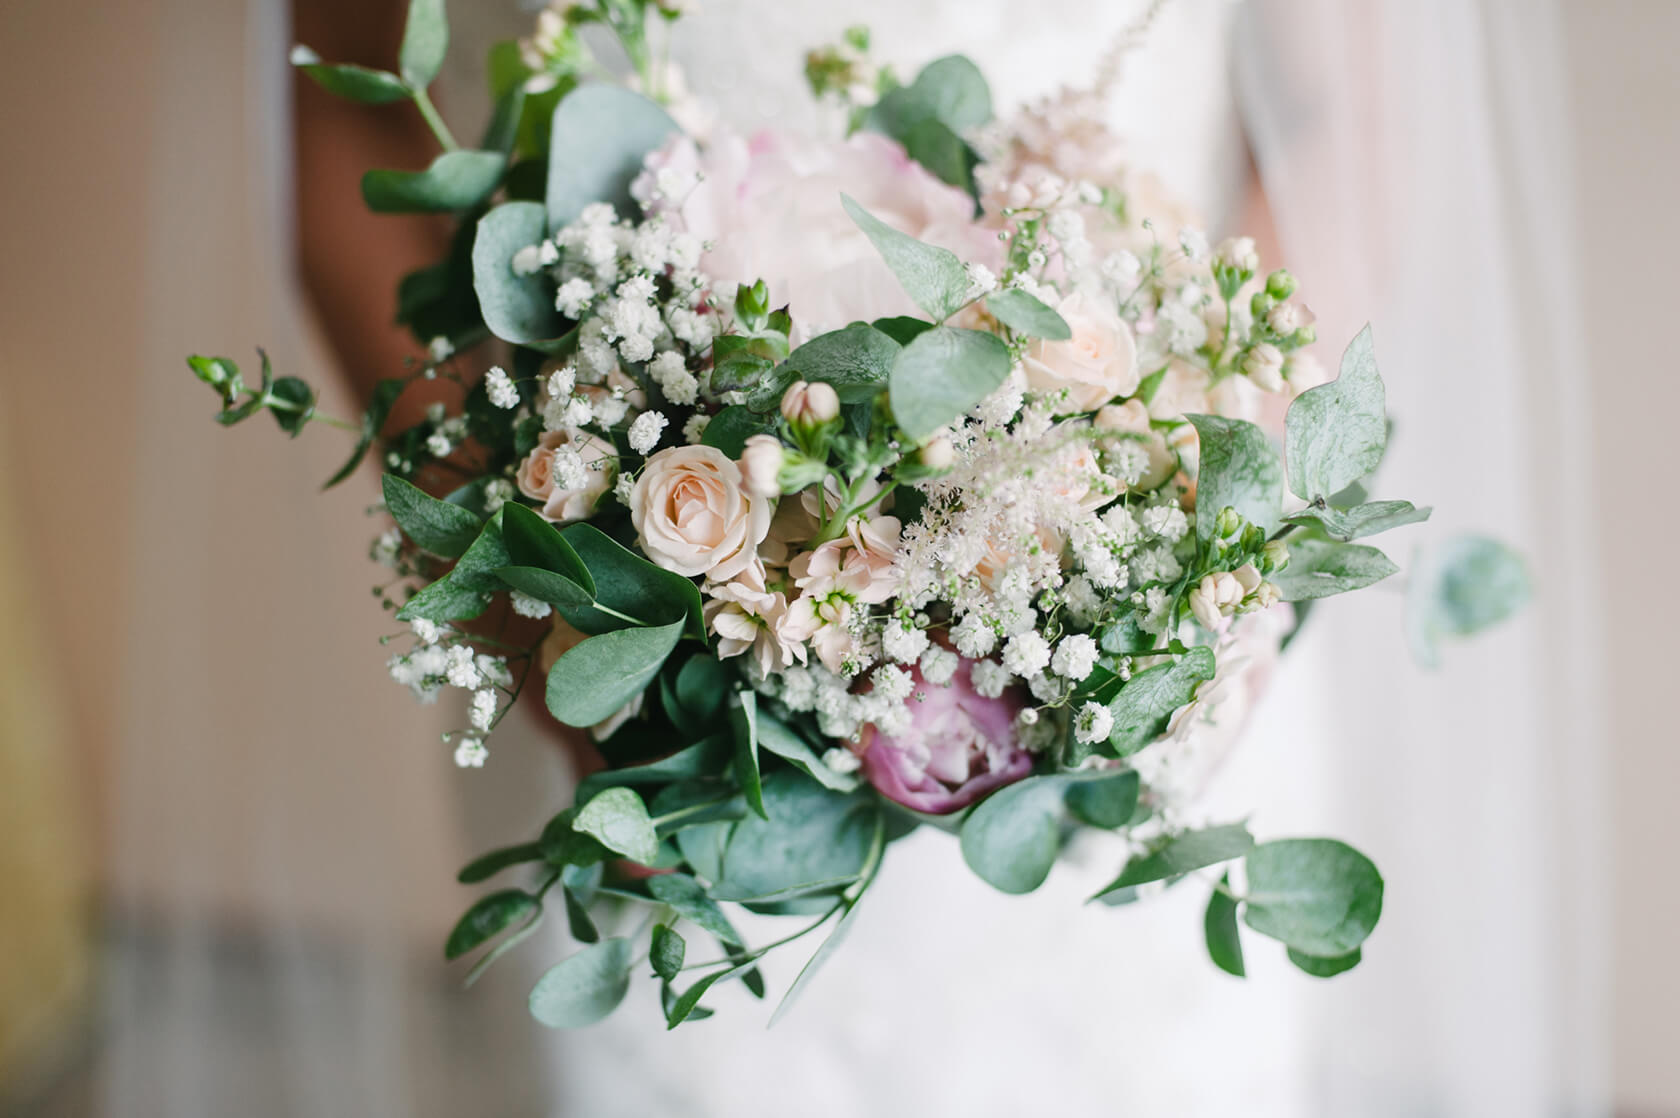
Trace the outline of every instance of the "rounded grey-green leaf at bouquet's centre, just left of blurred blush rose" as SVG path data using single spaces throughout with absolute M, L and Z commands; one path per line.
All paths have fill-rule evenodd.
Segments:
M 961 419 L 1010 375 L 1010 350 L 996 335 L 936 326 L 892 365 L 892 417 L 922 442 Z

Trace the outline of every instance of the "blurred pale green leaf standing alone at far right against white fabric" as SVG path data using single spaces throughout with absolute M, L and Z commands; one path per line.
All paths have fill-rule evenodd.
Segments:
M 1292 560 L 1294 565 L 1294 560 Z M 1406 632 L 1426 667 L 1440 662 L 1443 637 L 1490 629 L 1529 600 L 1522 555 L 1487 536 L 1457 536 L 1415 563 L 1406 590 Z

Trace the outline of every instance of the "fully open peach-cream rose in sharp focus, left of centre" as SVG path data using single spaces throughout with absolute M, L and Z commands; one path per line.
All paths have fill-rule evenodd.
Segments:
M 679 575 L 727 582 L 758 558 L 773 503 L 741 486 L 741 467 L 716 447 L 667 447 L 630 493 L 630 523 L 647 556 Z

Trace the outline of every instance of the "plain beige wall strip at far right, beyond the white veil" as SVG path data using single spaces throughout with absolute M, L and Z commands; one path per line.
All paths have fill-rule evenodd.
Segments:
M 1621 560 L 1667 565 L 1680 553 L 1673 479 L 1680 471 L 1675 286 L 1680 254 L 1680 3 L 1574 0 L 1569 10 L 1576 229 L 1581 298 L 1599 390 L 1596 437 L 1606 476 L 1591 521 L 1603 535 L 1611 646 L 1609 708 L 1616 888 L 1616 1088 L 1635 1115 L 1680 1115 L 1680 726 L 1675 721 L 1675 595 L 1650 597 Z M 1566 888 L 1566 886 L 1564 886 Z

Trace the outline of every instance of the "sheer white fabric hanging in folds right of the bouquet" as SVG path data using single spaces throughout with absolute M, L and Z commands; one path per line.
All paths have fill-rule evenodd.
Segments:
M 1388 879 L 1366 965 L 1312 992 L 1320 1113 L 1604 1113 L 1601 583 L 1567 526 L 1594 462 L 1557 10 L 1253 0 L 1236 62 L 1319 336 L 1376 331 L 1396 422 L 1378 496 L 1436 506 L 1423 546 L 1519 546 L 1537 587 L 1433 676 L 1408 662 L 1398 597 L 1312 619 L 1337 698 L 1300 757 L 1320 817 L 1297 822 Z

